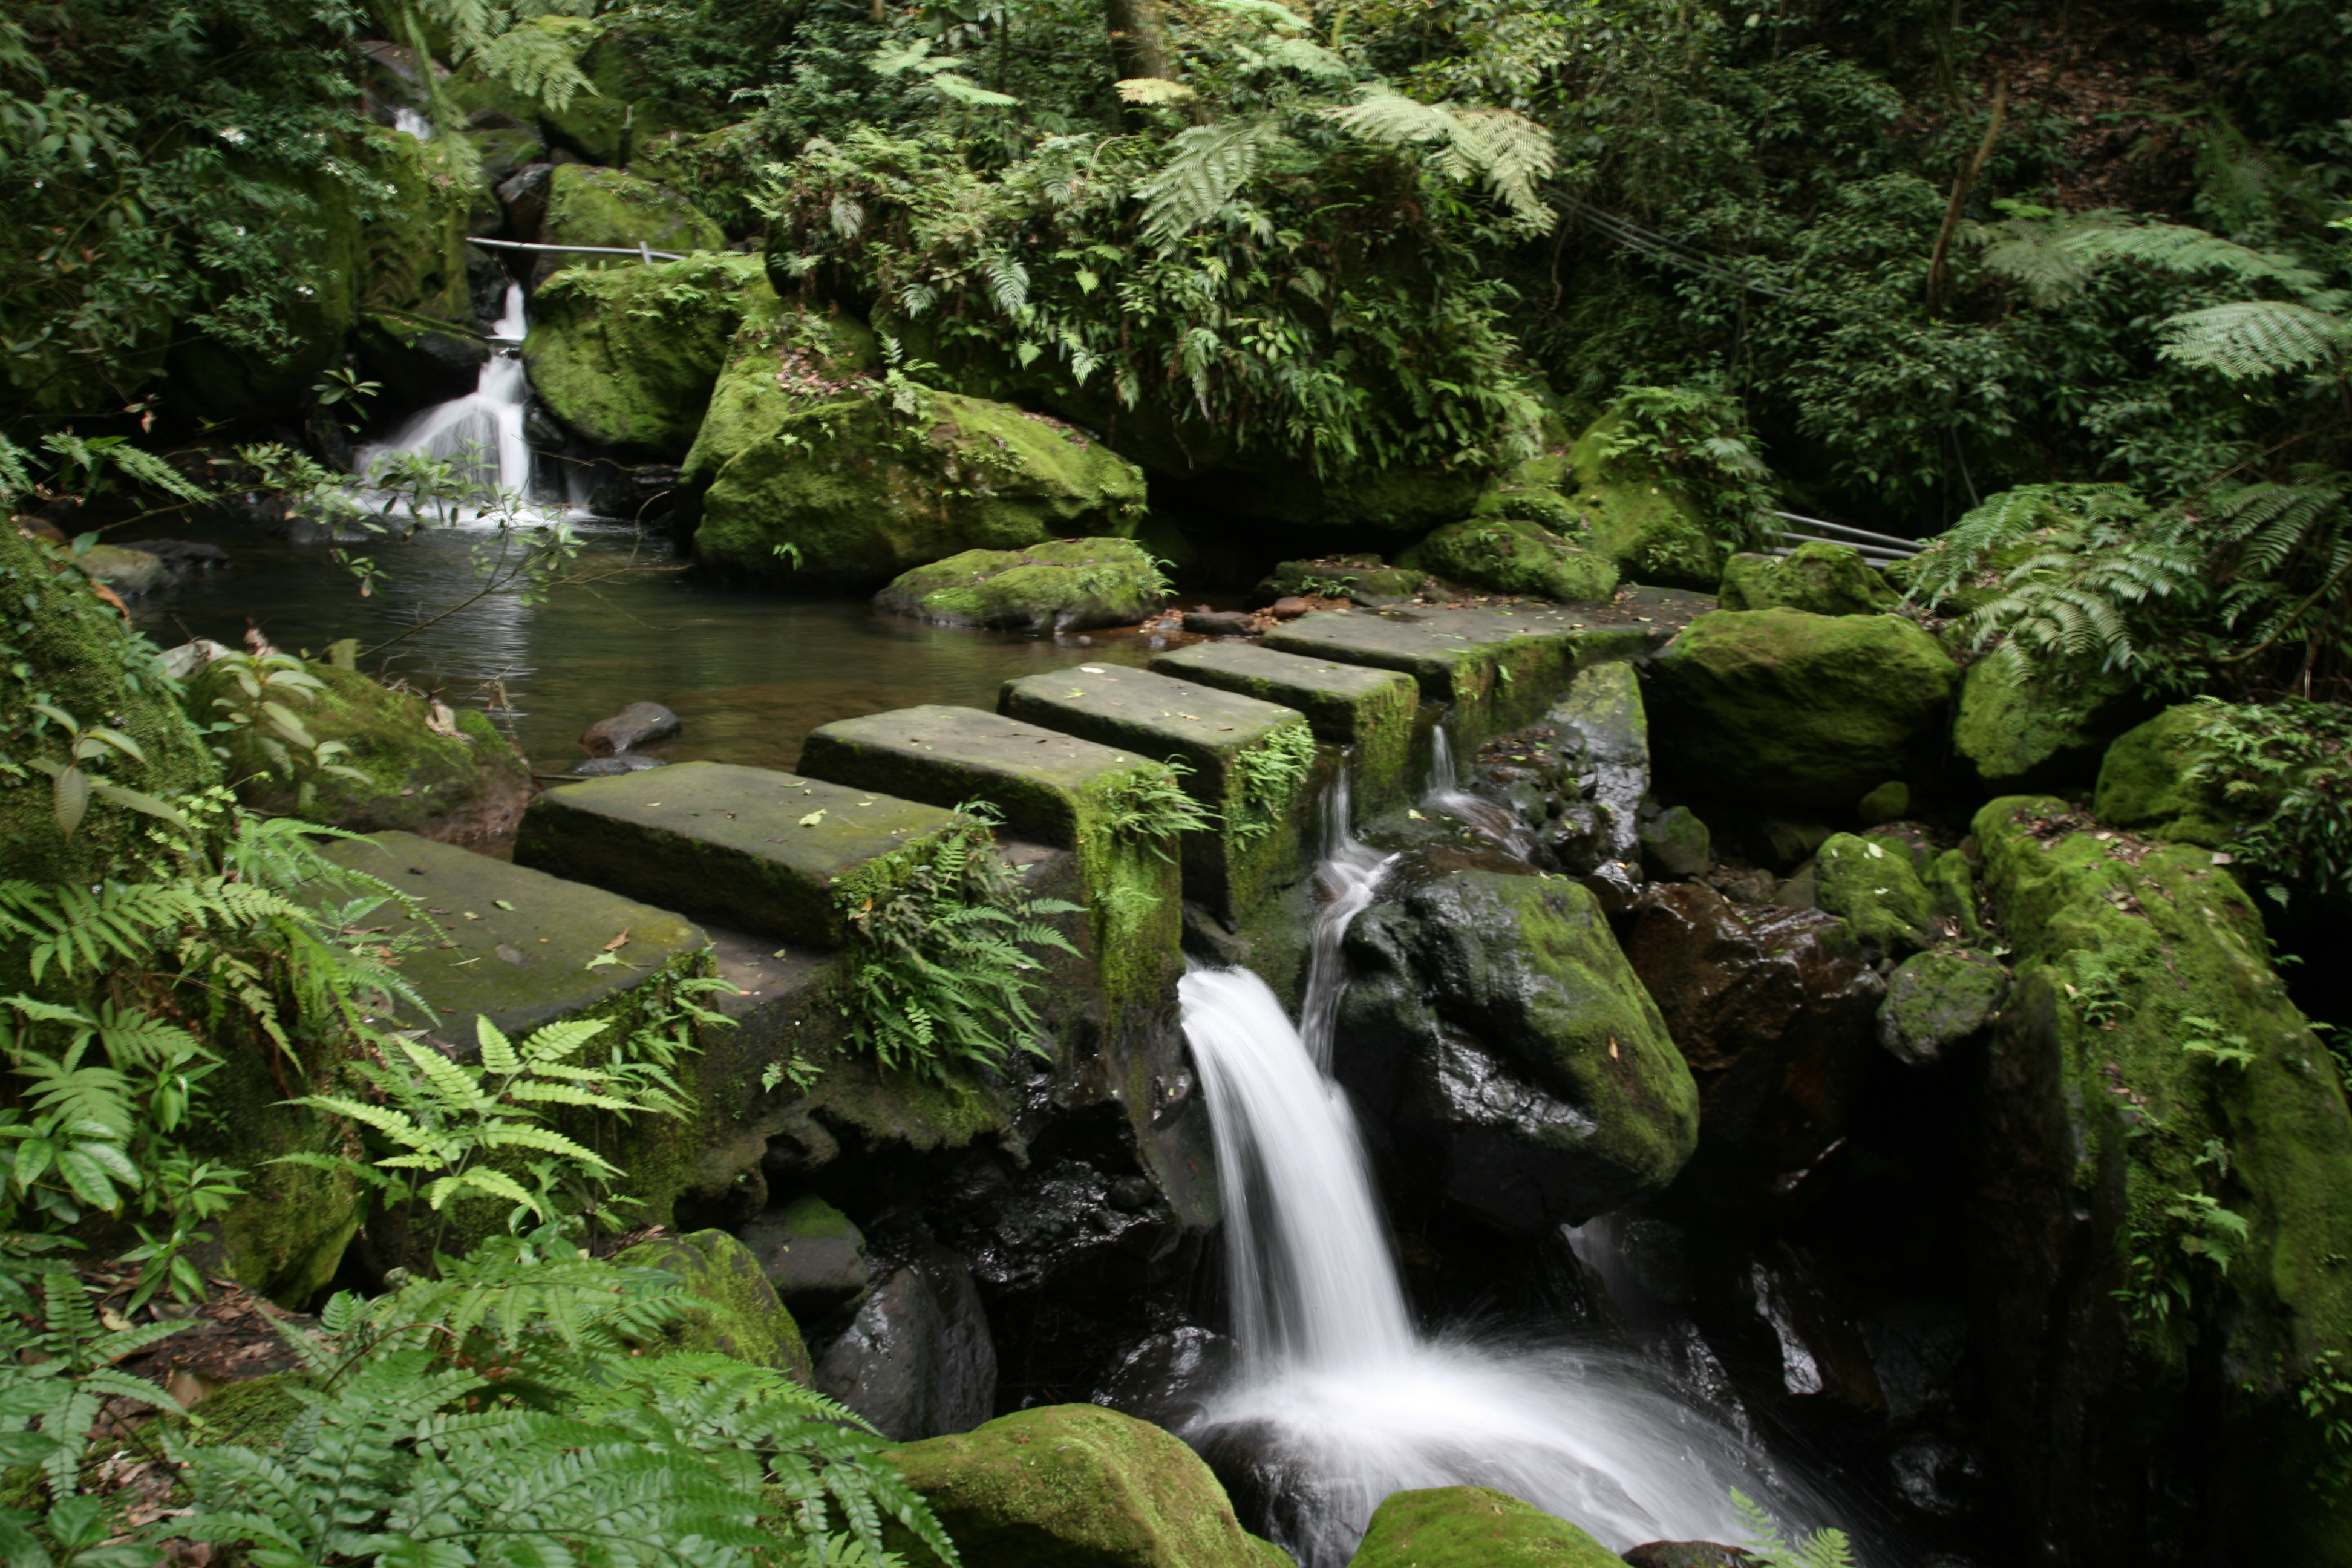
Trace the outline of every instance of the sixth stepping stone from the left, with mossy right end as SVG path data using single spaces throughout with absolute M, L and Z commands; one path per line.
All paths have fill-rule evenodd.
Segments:
M 1569 611 L 1319 609 L 1265 632 L 1265 646 L 1343 665 L 1402 670 L 1446 703 L 1454 745 L 1534 724 L 1576 670 L 1581 632 Z

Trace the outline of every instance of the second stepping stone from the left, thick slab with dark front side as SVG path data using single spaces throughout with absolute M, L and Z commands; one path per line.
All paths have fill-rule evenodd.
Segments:
M 821 778 L 682 762 L 548 790 L 515 863 L 760 936 L 840 947 L 833 879 L 920 844 L 953 811 Z

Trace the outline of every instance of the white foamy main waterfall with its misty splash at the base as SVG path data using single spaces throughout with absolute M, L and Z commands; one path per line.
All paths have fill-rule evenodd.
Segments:
M 1733 1486 L 1783 1519 L 1813 1512 L 1628 1354 L 1416 1335 L 1345 1093 L 1258 976 L 1192 971 L 1178 997 L 1242 1349 L 1183 1436 L 1249 1455 L 1305 1568 L 1341 1568 L 1383 1497 L 1425 1486 L 1494 1486 L 1613 1552 L 1736 1540 Z

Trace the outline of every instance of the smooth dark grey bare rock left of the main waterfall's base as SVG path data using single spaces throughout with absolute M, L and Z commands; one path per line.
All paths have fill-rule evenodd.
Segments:
M 997 1347 L 964 1260 L 917 1246 L 816 1363 L 816 1392 L 898 1441 L 969 1432 L 997 1394 Z

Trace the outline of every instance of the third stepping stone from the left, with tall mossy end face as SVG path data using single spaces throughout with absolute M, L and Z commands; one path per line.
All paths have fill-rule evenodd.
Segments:
M 934 806 L 985 799 L 1023 839 L 1075 851 L 1087 957 L 1115 1030 L 1152 1009 L 1181 966 L 1178 846 L 1120 830 L 1124 797 L 1160 776 L 1134 752 L 978 708 L 896 708 L 809 731 L 800 771 Z

